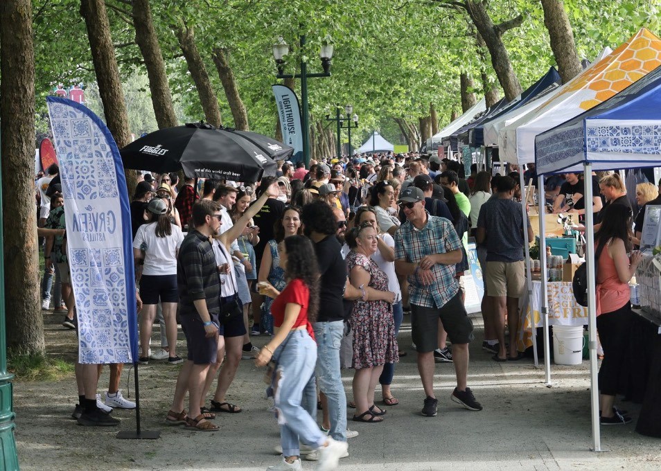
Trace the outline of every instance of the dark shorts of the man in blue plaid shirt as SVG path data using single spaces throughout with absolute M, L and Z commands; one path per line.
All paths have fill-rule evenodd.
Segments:
M 439 319 L 452 344 L 468 344 L 473 340 L 473 322 L 461 302 L 459 291 L 440 309 L 411 303 L 411 333 L 416 351 L 428 353 L 439 348 Z

